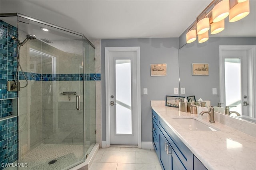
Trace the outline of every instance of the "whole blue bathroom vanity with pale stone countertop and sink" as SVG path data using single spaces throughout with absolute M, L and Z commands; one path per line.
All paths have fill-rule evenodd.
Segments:
M 153 145 L 164 170 L 255 170 L 256 137 L 164 101 L 151 101 L 151 107 Z

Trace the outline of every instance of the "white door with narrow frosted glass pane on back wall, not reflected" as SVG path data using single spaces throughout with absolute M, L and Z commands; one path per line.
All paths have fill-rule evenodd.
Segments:
M 106 47 L 105 50 L 108 55 L 106 55 L 108 60 L 106 72 L 109 73 L 106 107 L 109 110 L 110 145 L 138 145 L 140 136 L 138 51 L 124 47 L 114 49 Z

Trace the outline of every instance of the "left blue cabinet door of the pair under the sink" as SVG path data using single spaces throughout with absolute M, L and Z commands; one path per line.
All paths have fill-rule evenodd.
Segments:
M 169 170 L 172 167 L 172 161 L 170 154 L 171 147 L 161 131 L 159 131 L 159 144 L 160 144 L 160 161 L 164 170 Z M 169 147 L 168 147 L 169 146 Z

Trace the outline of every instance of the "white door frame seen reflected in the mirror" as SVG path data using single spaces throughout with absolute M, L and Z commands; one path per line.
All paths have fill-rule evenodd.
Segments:
M 221 88 L 225 85 L 225 77 L 222 76 L 224 73 L 224 63 L 223 63 L 223 55 L 222 51 L 224 50 L 245 50 L 247 57 L 250 57 L 250 61 L 252 63 L 252 94 L 256 94 L 256 45 L 220 45 L 219 46 L 219 76 L 220 76 L 220 102 L 225 102 L 225 89 Z M 255 107 L 256 106 L 256 97 L 252 95 L 252 110 L 251 113 L 254 114 Z M 249 109 L 249 108 L 248 108 Z M 255 115 L 252 115 L 253 117 Z

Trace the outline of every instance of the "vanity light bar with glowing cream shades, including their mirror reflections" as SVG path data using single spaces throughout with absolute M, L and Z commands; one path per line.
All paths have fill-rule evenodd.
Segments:
M 203 43 L 209 39 L 210 25 L 211 34 L 216 34 L 225 29 L 224 19 L 228 15 L 229 21 L 234 22 L 241 20 L 249 13 L 249 0 L 212 0 L 187 29 L 186 42 L 192 43 L 198 35 L 198 42 Z

